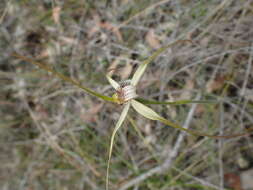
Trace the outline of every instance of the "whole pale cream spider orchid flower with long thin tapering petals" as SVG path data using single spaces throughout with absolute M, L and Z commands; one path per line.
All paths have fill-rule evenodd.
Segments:
M 131 80 L 127 80 L 122 83 L 118 83 L 115 80 L 113 80 L 109 75 L 106 75 L 107 80 L 109 81 L 111 86 L 115 89 L 115 93 L 113 94 L 112 97 L 105 96 L 103 94 L 95 92 L 95 91 L 89 89 L 88 87 L 83 86 L 83 84 L 81 84 L 81 83 L 61 74 L 61 73 L 58 73 L 52 67 L 50 67 L 46 64 L 36 62 L 33 59 L 27 58 L 27 57 L 22 56 L 17 53 L 13 53 L 12 55 L 14 57 L 21 59 L 21 60 L 24 60 L 24 61 L 30 62 L 34 65 L 37 65 L 39 68 L 46 70 L 46 71 L 52 73 L 53 75 L 61 78 L 62 80 L 68 81 L 68 82 L 72 83 L 73 85 L 83 89 L 84 91 L 86 91 L 90 95 L 96 96 L 96 97 L 103 99 L 105 101 L 108 101 L 108 102 L 113 102 L 113 103 L 124 105 L 124 108 L 121 112 L 119 120 L 116 123 L 116 126 L 112 132 L 112 136 L 110 139 L 110 147 L 109 147 L 109 155 L 108 155 L 107 171 L 106 171 L 106 190 L 108 190 L 109 189 L 110 161 L 111 161 L 111 155 L 112 155 L 115 135 L 116 135 L 117 131 L 120 129 L 120 127 L 122 126 L 124 120 L 126 119 L 126 116 L 127 116 L 127 113 L 129 111 L 130 107 L 133 107 L 133 109 L 136 112 L 138 112 L 142 116 L 146 117 L 147 119 L 162 122 L 167 126 L 179 129 L 181 131 L 185 131 L 185 132 L 190 133 L 192 135 L 206 136 L 206 137 L 210 137 L 210 138 L 233 138 L 233 137 L 248 135 L 249 131 L 253 130 L 252 128 L 250 128 L 250 129 L 247 129 L 247 132 L 245 132 L 245 133 L 234 134 L 234 135 L 229 135 L 229 136 L 210 135 L 210 134 L 202 133 L 199 131 L 194 131 L 191 129 L 185 129 L 185 128 L 181 127 L 180 125 L 178 125 L 172 121 L 169 121 L 168 119 L 165 119 L 164 117 L 162 117 L 158 113 L 156 113 L 154 110 L 152 110 L 151 108 L 144 105 L 144 104 L 180 105 L 180 104 L 187 104 L 187 103 L 212 103 L 211 101 L 193 101 L 193 100 L 180 100 L 177 102 L 160 102 L 160 101 L 146 100 L 143 98 L 139 98 L 138 95 L 136 94 L 136 86 L 137 86 L 138 82 L 140 81 L 141 76 L 144 74 L 148 64 L 151 63 L 152 61 L 154 61 L 162 52 L 164 52 L 165 50 L 167 50 L 171 46 L 176 45 L 179 42 L 181 43 L 181 42 L 191 42 L 191 41 L 190 40 L 177 40 L 175 42 L 170 43 L 169 45 L 159 48 L 149 58 L 144 60 L 139 65 L 139 67 L 135 71 L 133 78 Z

